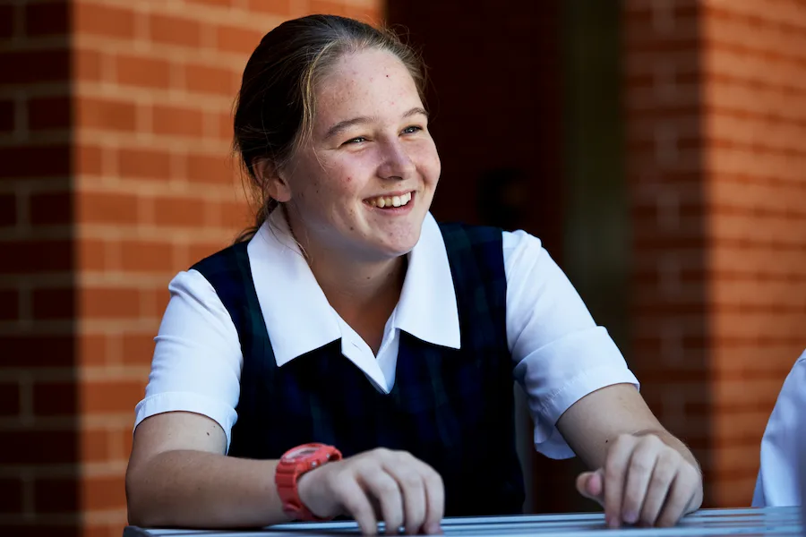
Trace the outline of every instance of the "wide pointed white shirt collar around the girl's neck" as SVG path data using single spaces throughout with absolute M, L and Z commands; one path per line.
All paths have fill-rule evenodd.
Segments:
M 341 338 L 333 310 L 281 210 L 247 246 L 252 278 L 278 366 Z M 431 213 L 408 253 L 393 328 L 433 345 L 459 348 L 459 310 L 442 232 Z

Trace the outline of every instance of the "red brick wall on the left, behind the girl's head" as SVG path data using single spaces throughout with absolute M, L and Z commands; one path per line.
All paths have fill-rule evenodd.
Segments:
M 377 0 L 0 4 L 0 533 L 119 537 L 176 271 L 251 220 L 230 111 L 287 18 Z

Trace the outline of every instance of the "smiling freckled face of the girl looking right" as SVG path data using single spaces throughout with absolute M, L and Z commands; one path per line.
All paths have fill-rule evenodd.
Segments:
M 406 67 L 366 50 L 344 55 L 319 82 L 313 136 L 280 171 L 278 200 L 306 248 L 385 260 L 415 246 L 440 172 Z

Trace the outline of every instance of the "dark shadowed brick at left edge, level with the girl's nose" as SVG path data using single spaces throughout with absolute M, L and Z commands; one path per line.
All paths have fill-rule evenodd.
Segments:
M 70 175 L 70 147 L 7 146 L 0 148 L 0 180 L 4 177 L 52 177 Z

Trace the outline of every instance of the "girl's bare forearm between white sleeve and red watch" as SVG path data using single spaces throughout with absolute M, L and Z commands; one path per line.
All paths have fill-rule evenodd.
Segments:
M 277 461 L 167 451 L 126 474 L 129 523 L 141 527 L 259 527 L 287 522 Z

